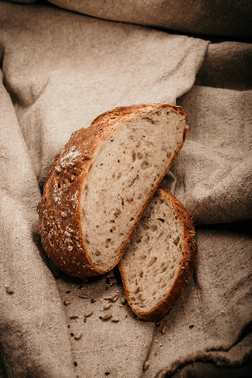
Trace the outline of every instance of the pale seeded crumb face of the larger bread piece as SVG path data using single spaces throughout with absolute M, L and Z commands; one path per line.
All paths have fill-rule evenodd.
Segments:
M 83 185 L 81 225 L 87 253 L 105 272 L 157 187 L 178 145 L 184 117 L 173 108 L 155 109 L 121 122 L 103 141 Z

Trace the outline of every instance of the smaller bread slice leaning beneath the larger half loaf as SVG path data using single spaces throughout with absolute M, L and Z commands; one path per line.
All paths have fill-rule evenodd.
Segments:
M 174 306 L 196 261 L 193 221 L 158 187 L 119 262 L 126 299 L 141 319 L 156 321 Z

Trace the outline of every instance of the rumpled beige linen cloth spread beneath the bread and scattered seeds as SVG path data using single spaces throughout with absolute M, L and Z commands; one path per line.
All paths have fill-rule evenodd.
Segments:
M 198 224 L 251 219 L 252 87 L 243 74 L 237 79 L 235 57 L 249 67 L 252 49 L 220 45 L 56 7 L 0 3 L 1 378 L 249 377 L 250 236 L 198 228 L 193 275 L 156 325 L 120 306 L 117 270 L 114 284 L 109 277 L 55 281 L 36 214 L 39 188 L 74 130 L 115 106 L 179 98 L 190 131 L 163 185 Z M 223 62 L 230 86 L 218 79 Z M 119 300 L 103 310 L 102 298 L 116 293 Z M 120 321 L 101 321 L 108 312 Z

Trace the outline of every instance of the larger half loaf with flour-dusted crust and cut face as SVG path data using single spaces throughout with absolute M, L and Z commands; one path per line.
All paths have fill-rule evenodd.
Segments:
M 186 117 L 179 106 L 132 105 L 72 134 L 37 208 L 43 248 L 60 270 L 83 278 L 118 263 L 183 146 Z

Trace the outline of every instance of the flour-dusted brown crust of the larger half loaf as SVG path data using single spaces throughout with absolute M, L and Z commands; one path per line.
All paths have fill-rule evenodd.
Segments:
M 106 272 L 93 265 L 86 253 L 81 231 L 81 195 L 98 147 L 122 122 L 148 110 L 157 111 L 169 107 L 187 118 L 181 107 L 167 104 L 118 107 L 95 118 L 90 127 L 73 132 L 64 149 L 55 156 L 53 166 L 45 179 L 44 192 L 37 212 L 43 248 L 53 264 L 64 273 L 83 278 Z M 178 145 L 171 164 L 183 146 L 188 129 L 185 125 L 183 141 Z M 119 259 L 127 248 L 145 206 L 167 170 L 160 175 L 160 180 L 146 199 L 132 232 L 127 235 L 122 245 Z

